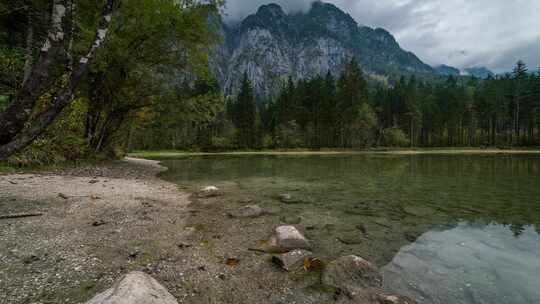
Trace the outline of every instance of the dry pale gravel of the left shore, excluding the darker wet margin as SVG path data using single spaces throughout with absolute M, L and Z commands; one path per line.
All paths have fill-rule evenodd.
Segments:
M 161 170 L 126 159 L 1 175 L 0 216 L 43 216 L 0 220 L 0 303 L 79 303 L 121 273 L 146 267 L 143 252 L 160 256 L 176 246 L 188 194 L 157 179 Z

